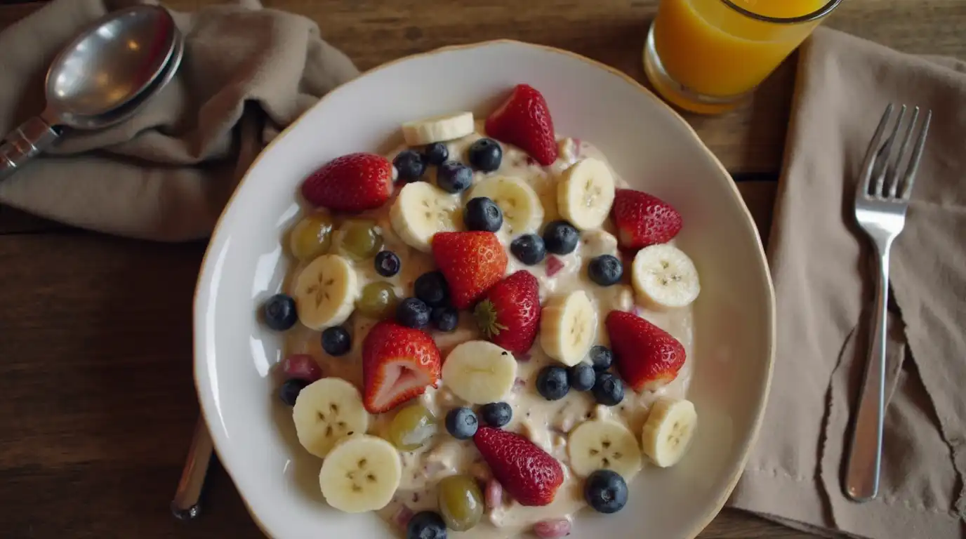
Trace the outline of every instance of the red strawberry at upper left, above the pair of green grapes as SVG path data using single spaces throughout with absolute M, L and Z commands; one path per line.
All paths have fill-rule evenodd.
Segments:
M 375 154 L 336 157 L 306 178 L 301 191 L 314 206 L 335 212 L 373 210 L 392 194 L 392 163 Z

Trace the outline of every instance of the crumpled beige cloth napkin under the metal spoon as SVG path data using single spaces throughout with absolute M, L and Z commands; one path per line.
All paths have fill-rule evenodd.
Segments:
M 43 110 L 50 61 L 86 24 L 134 0 L 55 0 L 0 34 L 0 136 Z M 2 9 L 2 8 L 0 8 Z M 110 234 L 208 236 L 266 136 L 358 71 L 312 20 L 258 0 L 171 12 L 185 57 L 125 123 L 72 131 L 0 183 L 0 203 Z

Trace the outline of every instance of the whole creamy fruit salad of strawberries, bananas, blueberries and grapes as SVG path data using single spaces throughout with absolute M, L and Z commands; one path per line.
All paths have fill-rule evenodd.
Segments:
M 300 184 L 261 306 L 327 504 L 408 539 L 562 537 L 584 507 L 621 511 L 696 430 L 681 215 L 558 136 L 526 84 L 485 119 L 401 132 Z

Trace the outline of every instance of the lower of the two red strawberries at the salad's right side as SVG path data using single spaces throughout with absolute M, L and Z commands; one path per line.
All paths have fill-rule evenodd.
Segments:
M 617 372 L 635 391 L 653 391 L 677 378 L 684 347 L 634 313 L 611 311 L 605 321 Z

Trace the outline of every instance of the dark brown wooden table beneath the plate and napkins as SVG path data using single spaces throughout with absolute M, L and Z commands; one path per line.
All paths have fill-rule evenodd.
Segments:
M 177 10 L 212 3 L 166 2 Z M 658 0 L 265 3 L 318 21 L 363 70 L 441 45 L 513 38 L 568 48 L 643 80 L 640 49 Z M 0 5 L 0 27 L 40 4 Z M 908 52 L 966 57 L 963 0 L 846 0 L 827 24 Z M 793 63 L 740 109 L 688 116 L 764 231 Z M 261 537 L 217 464 L 204 516 L 184 525 L 168 513 L 198 413 L 190 318 L 204 250 L 203 241 L 104 237 L 0 207 L 0 535 Z M 814 536 L 725 509 L 701 537 Z

